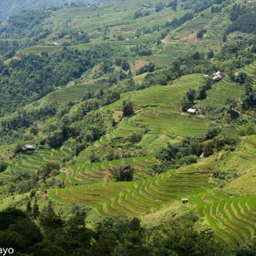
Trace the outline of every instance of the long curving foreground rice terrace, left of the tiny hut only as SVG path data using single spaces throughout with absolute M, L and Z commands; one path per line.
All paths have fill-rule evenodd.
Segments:
M 60 202 L 81 202 L 102 215 L 138 216 L 150 208 L 212 189 L 208 175 L 178 174 L 167 171 L 136 182 L 106 182 L 50 189 L 50 198 Z

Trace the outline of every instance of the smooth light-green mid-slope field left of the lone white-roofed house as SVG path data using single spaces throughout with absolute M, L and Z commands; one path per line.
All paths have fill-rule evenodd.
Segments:
M 151 133 L 175 134 L 181 137 L 204 133 L 209 120 L 201 116 L 182 115 L 180 110 L 181 100 L 187 89 L 198 88 L 202 81 L 201 74 L 191 74 L 179 78 L 172 85 L 157 85 L 140 91 L 126 92 L 122 98 L 133 102 L 135 114 L 129 119 L 123 119 L 106 139 L 126 137 L 131 132 L 139 130 L 138 126 L 147 126 Z M 103 109 L 119 111 L 121 103 L 122 99 Z

